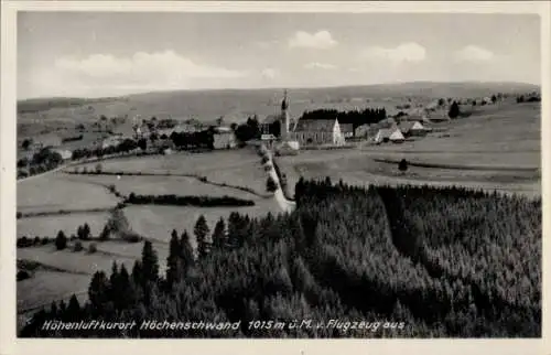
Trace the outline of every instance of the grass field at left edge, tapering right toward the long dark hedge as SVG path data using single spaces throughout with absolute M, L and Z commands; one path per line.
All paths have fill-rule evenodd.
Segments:
M 112 207 L 118 202 L 105 187 L 71 181 L 61 172 L 21 181 L 17 194 L 18 212 L 23 213 Z

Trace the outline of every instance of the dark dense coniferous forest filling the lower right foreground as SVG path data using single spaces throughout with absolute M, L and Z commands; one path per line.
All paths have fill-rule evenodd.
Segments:
M 462 187 L 300 180 L 296 209 L 174 230 L 132 269 L 53 303 L 23 337 L 540 337 L 541 198 Z M 191 236 L 197 238 L 197 250 Z M 48 320 L 238 322 L 235 330 L 44 331 Z M 380 322 L 251 327 L 250 321 Z M 268 324 L 268 323 L 266 323 Z

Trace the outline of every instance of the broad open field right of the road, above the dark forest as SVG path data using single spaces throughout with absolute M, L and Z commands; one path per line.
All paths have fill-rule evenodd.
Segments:
M 468 118 L 434 125 L 434 132 L 401 144 L 364 144 L 339 151 L 302 151 L 281 157 L 278 163 L 290 185 L 302 175 L 352 184 L 414 183 L 463 185 L 541 195 L 539 105 L 503 104 Z M 449 136 L 449 137 L 443 137 Z M 397 162 L 410 165 L 398 171 Z M 377 161 L 376 161 L 377 160 Z

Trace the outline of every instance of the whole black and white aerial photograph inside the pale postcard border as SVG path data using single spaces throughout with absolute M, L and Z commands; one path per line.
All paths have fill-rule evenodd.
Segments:
M 541 338 L 537 11 L 18 11 L 17 337 Z

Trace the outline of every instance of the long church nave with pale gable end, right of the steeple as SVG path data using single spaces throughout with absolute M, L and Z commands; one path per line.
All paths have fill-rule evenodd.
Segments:
M 343 146 L 345 137 L 338 120 L 335 119 L 300 119 L 292 132 L 300 146 L 334 144 Z

